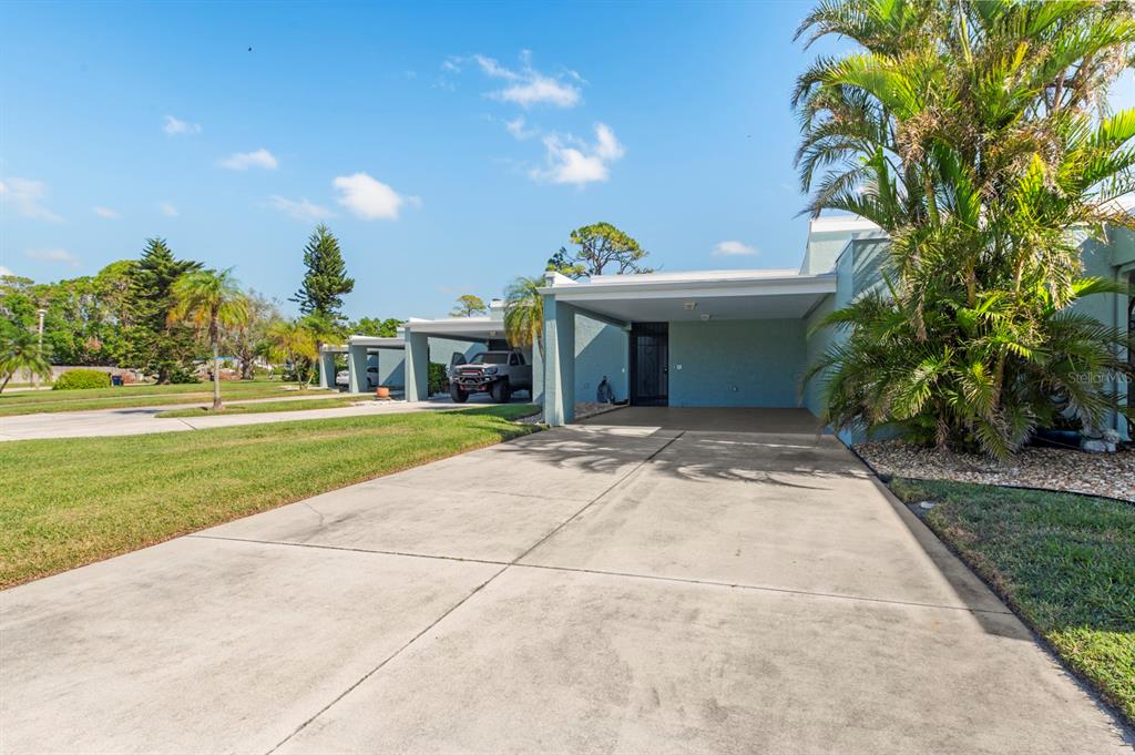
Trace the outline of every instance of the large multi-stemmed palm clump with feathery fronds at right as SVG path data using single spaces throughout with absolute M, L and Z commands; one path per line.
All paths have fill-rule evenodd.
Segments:
M 1130 374 L 1123 334 L 1067 307 L 1116 291 L 1082 276 L 1074 229 L 1130 226 L 1135 111 L 1095 109 L 1128 59 L 1127 6 L 825 0 L 798 37 L 858 43 L 800 76 L 808 212 L 890 236 L 885 291 L 825 326 L 812 367 L 840 429 L 899 423 L 1004 456 L 1058 412 L 1118 409 L 1100 370 Z

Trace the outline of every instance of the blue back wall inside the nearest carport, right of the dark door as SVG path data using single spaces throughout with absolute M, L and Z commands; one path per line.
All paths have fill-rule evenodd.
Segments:
M 671 406 L 799 406 L 805 321 L 670 324 Z

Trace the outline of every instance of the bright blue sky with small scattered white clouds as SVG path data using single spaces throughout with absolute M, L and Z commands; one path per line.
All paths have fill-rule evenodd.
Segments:
M 285 300 L 322 219 L 346 313 L 401 318 L 598 220 L 667 270 L 796 267 L 807 9 L 5 3 L 0 266 L 89 275 L 158 235 Z

